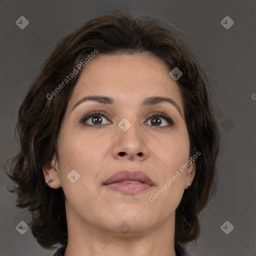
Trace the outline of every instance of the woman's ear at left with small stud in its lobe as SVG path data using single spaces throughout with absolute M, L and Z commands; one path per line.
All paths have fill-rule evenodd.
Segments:
M 45 183 L 50 179 L 51 182 L 47 182 L 47 185 L 51 188 L 59 188 L 61 186 L 58 171 L 58 162 L 56 155 L 52 159 L 42 165 L 42 172 L 44 175 Z

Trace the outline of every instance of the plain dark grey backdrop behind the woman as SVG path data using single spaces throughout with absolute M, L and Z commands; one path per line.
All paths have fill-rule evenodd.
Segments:
M 256 1 L 255 0 L 2 0 L 0 1 L 0 255 L 52 255 L 30 229 L 15 225 L 29 217 L 15 207 L 6 187 L 4 161 L 18 149 L 14 125 L 22 98 L 53 46 L 101 11 L 119 8 L 170 20 L 181 28 L 207 72 L 222 146 L 215 199 L 203 210 L 203 231 L 193 255 L 256 255 Z M 234 24 L 224 28 L 228 15 Z M 20 29 L 15 21 L 25 16 Z M 234 229 L 225 234 L 228 220 Z M 227 229 L 229 227 L 227 226 Z

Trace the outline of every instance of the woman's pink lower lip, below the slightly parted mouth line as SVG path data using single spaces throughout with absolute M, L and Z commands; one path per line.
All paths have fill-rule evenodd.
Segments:
M 124 194 L 135 194 L 137 192 L 147 190 L 151 187 L 151 185 L 146 183 L 120 183 L 120 182 L 107 184 L 106 186 Z

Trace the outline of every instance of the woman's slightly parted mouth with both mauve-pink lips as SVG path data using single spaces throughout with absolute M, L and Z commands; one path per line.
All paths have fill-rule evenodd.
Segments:
M 103 185 L 124 194 L 135 194 L 150 189 L 154 183 L 141 171 L 122 170 L 104 180 Z

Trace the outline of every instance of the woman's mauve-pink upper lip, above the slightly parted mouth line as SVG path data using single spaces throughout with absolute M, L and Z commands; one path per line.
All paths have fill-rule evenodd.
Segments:
M 151 186 L 154 185 L 152 180 L 141 171 L 130 171 L 130 170 L 121 170 L 112 174 L 109 178 L 103 181 L 104 185 L 111 184 L 114 182 L 124 181 L 124 180 L 138 180 L 143 183 L 147 183 Z

